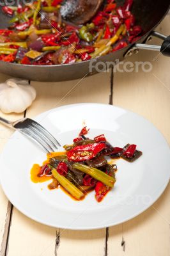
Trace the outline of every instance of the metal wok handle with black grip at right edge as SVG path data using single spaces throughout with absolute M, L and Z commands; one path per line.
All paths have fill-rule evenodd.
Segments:
M 139 51 L 139 49 L 150 50 L 150 51 L 159 51 L 164 56 L 170 57 L 170 36 L 162 35 L 156 31 L 153 31 L 150 34 L 150 36 L 148 36 L 148 39 L 151 36 L 156 36 L 157 38 L 164 40 L 164 42 L 162 43 L 162 45 L 135 44 L 134 47 L 132 47 L 130 50 L 128 50 L 128 52 L 125 54 L 125 57 L 132 55 L 134 52 L 137 53 Z

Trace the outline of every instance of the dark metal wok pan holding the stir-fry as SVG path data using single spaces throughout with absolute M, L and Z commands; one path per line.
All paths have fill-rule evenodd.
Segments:
M 9 1 L 10 2 L 10 1 Z M 20 3 L 26 1 L 20 1 Z M 123 0 L 117 0 L 118 4 L 123 4 Z M 4 3 L 4 1 L 0 1 Z M 16 1 L 19 3 L 19 0 Z M 2 5 L 2 4 L 1 4 Z M 123 60 L 125 56 L 132 54 L 137 49 L 152 49 L 156 51 L 161 51 L 162 54 L 170 56 L 170 36 L 166 36 L 155 33 L 155 36 L 162 38 L 164 40 L 162 47 L 149 47 L 142 43 L 146 42 L 148 36 L 153 33 L 153 29 L 160 23 L 164 18 L 167 11 L 169 10 L 170 1 L 169 0 L 134 0 L 132 6 L 132 13 L 134 13 L 136 18 L 136 24 L 142 26 L 144 35 L 140 40 L 134 45 L 128 45 L 127 47 L 107 54 L 106 56 L 101 56 L 96 58 L 95 64 L 98 61 L 115 61 Z M 1 8 L 1 7 L 0 7 Z M 0 29 L 8 27 L 8 17 L 4 15 L 0 10 Z M 97 70 L 95 68 L 89 68 L 89 63 L 91 60 L 82 61 L 79 63 L 72 63 L 66 65 L 52 65 L 52 66 L 33 66 L 33 65 L 20 65 L 15 63 L 6 63 L 0 61 L 0 72 L 8 74 L 14 77 L 21 77 L 24 79 L 29 79 L 33 81 L 67 81 L 72 79 L 78 79 L 81 77 L 92 74 L 96 74 Z M 91 69 L 91 70 L 90 70 Z

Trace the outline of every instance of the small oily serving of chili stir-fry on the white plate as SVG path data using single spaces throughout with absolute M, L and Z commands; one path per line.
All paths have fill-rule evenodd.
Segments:
M 88 191 L 95 190 L 95 198 L 101 202 L 116 182 L 116 164 L 109 159 L 122 158 L 133 162 L 142 155 L 136 145 L 112 147 L 104 134 L 93 139 L 86 138 L 89 129 L 84 127 L 72 145 L 65 145 L 65 152 L 52 152 L 42 166 L 34 164 L 31 169 L 33 182 L 52 179 L 49 189 L 61 186 L 75 200 L 82 200 Z

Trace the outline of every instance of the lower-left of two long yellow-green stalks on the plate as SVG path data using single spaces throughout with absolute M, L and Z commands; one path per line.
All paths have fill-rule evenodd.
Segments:
M 52 175 L 56 180 L 58 180 L 59 184 L 63 186 L 74 198 L 77 200 L 81 200 L 84 197 L 84 193 L 75 187 L 70 180 L 66 179 L 63 175 L 60 175 L 56 169 L 52 169 Z

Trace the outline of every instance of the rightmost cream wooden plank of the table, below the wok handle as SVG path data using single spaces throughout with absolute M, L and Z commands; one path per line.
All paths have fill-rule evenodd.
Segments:
M 157 31 L 169 35 L 170 16 Z M 155 40 L 153 42 L 160 42 Z M 152 43 L 152 42 L 151 42 Z M 130 109 L 150 120 L 170 143 L 170 87 L 169 58 L 158 52 L 140 51 L 127 61 L 150 61 L 149 73 L 116 73 L 113 104 Z M 164 255 L 169 256 L 170 186 L 160 199 L 133 220 L 109 228 L 108 255 Z M 125 240 L 125 253 L 120 236 Z

